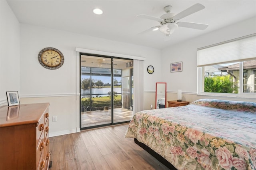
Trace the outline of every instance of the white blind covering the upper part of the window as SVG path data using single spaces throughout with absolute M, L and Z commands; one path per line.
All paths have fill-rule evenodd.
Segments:
M 197 50 L 198 67 L 253 58 L 256 58 L 256 34 Z

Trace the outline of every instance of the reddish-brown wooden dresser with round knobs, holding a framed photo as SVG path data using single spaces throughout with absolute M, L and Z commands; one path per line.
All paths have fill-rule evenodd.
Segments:
M 0 170 L 48 170 L 49 103 L 0 107 Z

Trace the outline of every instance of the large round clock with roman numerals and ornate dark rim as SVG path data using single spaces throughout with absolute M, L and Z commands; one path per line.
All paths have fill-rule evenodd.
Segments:
M 60 50 L 47 47 L 39 52 L 38 61 L 44 68 L 55 70 L 63 65 L 64 56 Z

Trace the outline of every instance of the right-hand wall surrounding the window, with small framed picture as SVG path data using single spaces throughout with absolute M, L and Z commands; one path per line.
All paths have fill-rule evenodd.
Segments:
M 167 100 L 176 100 L 176 92 L 182 89 L 182 100 L 194 101 L 198 98 L 220 98 L 213 96 L 198 96 L 197 92 L 197 48 L 224 42 L 234 38 L 256 33 L 256 18 L 221 28 L 186 42 L 172 45 L 162 50 L 162 73 L 167 82 Z M 182 62 L 182 72 L 170 72 L 170 63 Z M 163 78 L 164 79 L 164 78 Z M 254 101 L 248 98 L 222 98 L 227 100 Z

